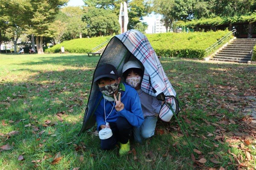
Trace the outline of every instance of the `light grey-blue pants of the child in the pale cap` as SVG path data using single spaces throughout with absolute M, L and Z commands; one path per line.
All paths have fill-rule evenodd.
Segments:
M 157 116 L 146 116 L 139 128 L 133 127 L 134 140 L 141 143 L 143 139 L 154 136 Z

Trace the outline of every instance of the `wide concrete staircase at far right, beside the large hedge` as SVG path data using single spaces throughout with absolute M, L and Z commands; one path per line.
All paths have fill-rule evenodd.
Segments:
M 252 49 L 256 39 L 235 39 L 222 48 L 211 60 L 247 63 L 252 59 Z

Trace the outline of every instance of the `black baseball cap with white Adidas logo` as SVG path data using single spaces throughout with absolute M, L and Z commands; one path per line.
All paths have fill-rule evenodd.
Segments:
M 98 66 L 94 73 L 93 83 L 103 77 L 112 78 L 114 80 L 117 79 L 118 72 L 116 70 L 116 67 L 114 67 L 111 64 L 104 64 L 104 65 Z

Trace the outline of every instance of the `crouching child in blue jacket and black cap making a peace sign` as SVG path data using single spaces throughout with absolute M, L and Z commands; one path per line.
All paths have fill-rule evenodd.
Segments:
M 119 142 L 119 154 L 124 155 L 130 151 L 129 139 L 132 137 L 133 127 L 140 127 L 144 121 L 140 98 L 134 88 L 120 83 L 121 78 L 111 64 L 99 66 L 94 77 L 94 82 L 100 88 L 95 103 L 98 103 L 103 95 L 94 113 L 97 129 L 100 131 L 106 128 L 108 122 L 108 128 L 113 133 L 110 138 L 101 139 L 101 148 L 109 150 Z

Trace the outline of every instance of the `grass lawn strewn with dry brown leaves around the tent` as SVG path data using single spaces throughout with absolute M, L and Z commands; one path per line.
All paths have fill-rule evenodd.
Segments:
M 153 138 L 119 157 L 100 149 L 95 127 L 76 145 L 98 60 L 0 55 L 0 169 L 256 168 L 256 65 L 162 58 L 197 154 L 177 122 L 159 120 Z

